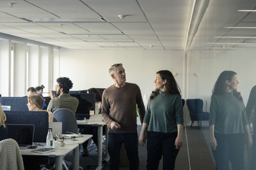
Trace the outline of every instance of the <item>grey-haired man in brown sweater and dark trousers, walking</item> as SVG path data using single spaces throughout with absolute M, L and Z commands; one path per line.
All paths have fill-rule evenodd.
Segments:
M 102 117 L 108 125 L 108 150 L 110 169 L 118 169 L 120 148 L 124 143 L 130 170 L 139 168 L 138 134 L 136 124 L 136 104 L 143 122 L 145 107 L 140 88 L 134 83 L 126 83 L 123 64 L 114 64 L 109 69 L 114 85 L 104 90 L 102 96 Z

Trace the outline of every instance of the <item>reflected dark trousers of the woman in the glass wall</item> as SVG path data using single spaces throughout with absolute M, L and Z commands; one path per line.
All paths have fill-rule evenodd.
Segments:
M 218 170 L 229 169 L 230 160 L 233 170 L 244 169 L 244 134 L 214 134 L 216 150 L 212 150 Z

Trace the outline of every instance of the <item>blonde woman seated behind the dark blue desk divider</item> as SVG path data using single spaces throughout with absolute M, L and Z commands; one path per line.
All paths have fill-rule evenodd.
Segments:
M 28 110 L 29 111 L 45 111 L 42 110 L 42 104 L 43 104 L 43 97 L 34 94 L 32 96 L 28 96 Z M 52 122 L 53 120 L 53 113 L 51 111 L 48 111 L 49 114 L 49 122 Z

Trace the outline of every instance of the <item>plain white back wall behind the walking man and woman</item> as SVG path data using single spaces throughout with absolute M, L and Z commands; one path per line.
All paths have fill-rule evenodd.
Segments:
M 184 89 L 183 52 L 180 50 L 60 50 L 60 76 L 69 77 L 73 90 L 106 88 L 113 84 L 108 69 L 122 63 L 127 82 L 140 86 L 142 95 L 154 90 L 156 72 L 168 69 Z

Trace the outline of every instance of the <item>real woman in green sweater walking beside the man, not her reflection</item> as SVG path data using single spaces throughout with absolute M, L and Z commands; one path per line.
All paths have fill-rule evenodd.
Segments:
M 156 90 L 148 101 L 140 132 L 140 144 L 147 140 L 147 169 L 157 170 L 163 156 L 163 169 L 174 169 L 182 146 L 183 106 L 179 87 L 168 70 L 156 73 Z M 146 134 L 147 129 L 147 134 Z

